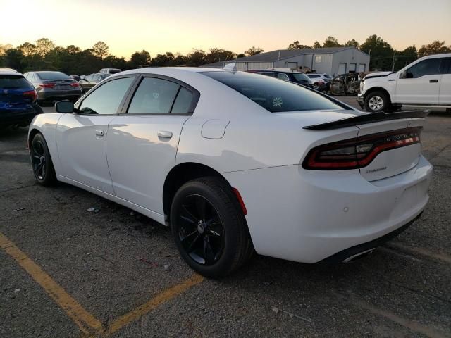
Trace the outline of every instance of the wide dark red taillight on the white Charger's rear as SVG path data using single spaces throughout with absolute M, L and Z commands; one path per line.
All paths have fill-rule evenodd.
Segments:
M 369 165 L 378 154 L 420 143 L 421 127 L 381 132 L 316 146 L 302 163 L 310 170 L 346 170 Z

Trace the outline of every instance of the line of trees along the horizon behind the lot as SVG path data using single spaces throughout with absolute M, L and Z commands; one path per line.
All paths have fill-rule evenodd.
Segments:
M 369 36 L 366 41 L 359 44 L 354 39 L 345 44 L 340 44 L 335 37 L 327 37 L 323 44 L 315 42 L 312 46 L 300 44 L 295 41 L 288 49 L 321 48 L 335 46 L 354 46 L 357 49 L 370 54 L 370 69 L 395 70 L 404 67 L 408 63 L 421 56 L 451 52 L 451 46 L 445 42 L 434 41 L 423 45 L 419 49 L 415 45 L 402 51 L 396 51 L 388 42 L 377 35 Z M 146 50 L 135 51 L 129 60 L 114 56 L 109 51 L 109 46 L 102 41 L 97 42 L 89 49 L 80 49 L 78 46 L 56 46 L 50 39 L 37 39 L 35 44 L 24 42 L 20 46 L 13 47 L 9 44 L 0 44 L 0 66 L 16 69 L 22 73 L 30 70 L 60 70 L 69 75 L 87 75 L 96 73 L 101 68 L 119 68 L 128 70 L 140 67 L 164 67 L 164 66 L 193 66 L 197 67 L 207 63 L 218 61 L 230 61 L 235 58 L 252 56 L 263 53 L 264 50 L 252 46 L 243 53 L 236 54 L 226 49 L 211 48 L 208 52 L 202 49 L 193 49 L 183 55 L 167 51 L 165 54 L 156 54 L 153 58 Z

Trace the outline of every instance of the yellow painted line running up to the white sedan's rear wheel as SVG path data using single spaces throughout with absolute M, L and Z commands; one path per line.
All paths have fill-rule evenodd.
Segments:
M 170 287 L 169 289 L 156 294 L 156 296 L 154 296 L 154 298 L 149 300 L 147 303 L 142 304 L 142 306 L 138 306 L 137 308 L 135 308 L 135 310 L 132 310 L 129 313 L 126 313 L 125 315 L 122 315 L 118 319 L 114 320 L 109 325 L 104 335 L 107 336 L 116 332 L 117 330 L 120 330 L 125 325 L 128 325 L 133 321 L 141 318 L 142 315 L 149 313 L 157 306 L 160 306 L 162 303 L 173 299 L 175 296 L 178 296 L 179 294 L 185 292 L 187 289 L 190 289 L 190 287 L 199 284 L 200 282 L 202 282 L 202 280 L 204 280 L 204 277 L 195 274 L 184 282 L 176 284 L 173 287 Z

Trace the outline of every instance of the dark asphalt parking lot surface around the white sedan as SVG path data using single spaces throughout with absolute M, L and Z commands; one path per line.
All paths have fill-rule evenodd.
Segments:
M 451 337 L 449 113 L 428 117 L 431 200 L 406 232 L 351 264 L 257 256 L 220 281 L 193 275 L 149 218 L 38 186 L 26 137 L 0 132 L 0 337 Z

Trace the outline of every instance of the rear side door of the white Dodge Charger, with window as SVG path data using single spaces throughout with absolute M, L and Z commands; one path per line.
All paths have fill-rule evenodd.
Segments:
M 108 129 L 106 156 L 116 196 L 163 215 L 163 184 L 198 98 L 195 89 L 171 78 L 140 79 Z

